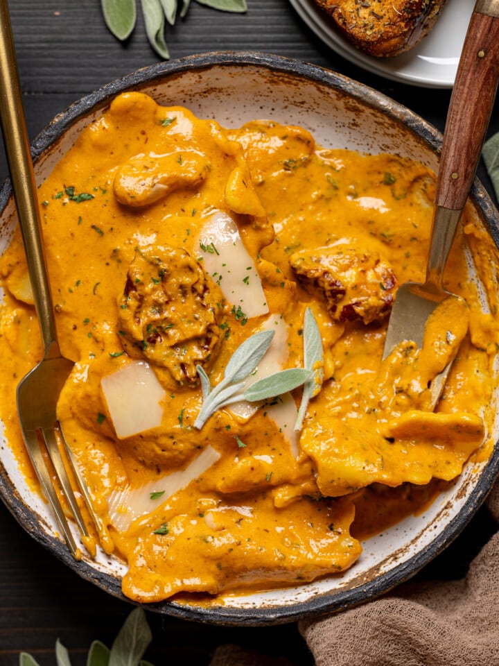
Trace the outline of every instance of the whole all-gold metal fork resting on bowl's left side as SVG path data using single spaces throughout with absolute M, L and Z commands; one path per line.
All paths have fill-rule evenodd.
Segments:
M 80 491 L 98 531 L 100 531 L 99 522 L 92 509 L 87 487 L 62 436 L 56 414 L 59 394 L 71 373 L 73 361 L 61 355 L 55 330 L 53 304 L 40 235 L 37 187 L 7 0 L 0 0 L 0 119 L 44 350 L 40 364 L 21 379 L 17 386 L 17 412 L 33 468 L 55 512 L 71 554 L 80 559 L 81 551 L 73 538 L 60 495 L 64 496 L 71 507 L 82 534 L 82 542 L 91 554 L 95 552 L 95 543 L 89 536 L 67 472 L 73 477 L 73 483 Z M 53 478 L 59 484 L 60 495 L 55 488 Z

